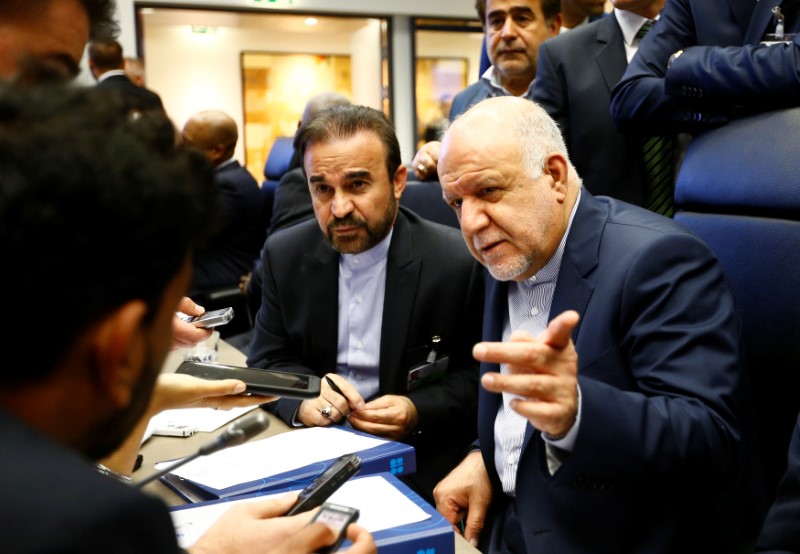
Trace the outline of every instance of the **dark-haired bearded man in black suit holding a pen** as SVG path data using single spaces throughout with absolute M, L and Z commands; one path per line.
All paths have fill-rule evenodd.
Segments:
M 267 239 L 247 364 L 331 378 L 343 394 L 323 379 L 318 398 L 271 408 L 413 445 L 409 483 L 430 497 L 475 438 L 480 266 L 457 231 L 398 208 L 406 168 L 381 112 L 333 108 L 296 140 L 316 221 Z

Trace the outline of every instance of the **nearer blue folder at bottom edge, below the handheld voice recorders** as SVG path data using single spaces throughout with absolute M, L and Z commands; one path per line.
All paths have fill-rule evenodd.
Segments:
M 416 506 L 424 511 L 428 519 L 418 521 L 416 523 L 409 523 L 407 525 L 400 525 L 398 527 L 391 527 L 381 531 L 372 533 L 375 543 L 378 546 L 379 554 L 455 554 L 455 533 L 453 526 L 447 521 L 442 514 L 436 511 L 436 508 L 428 504 L 417 493 L 412 491 L 405 483 L 400 481 L 395 475 L 391 473 L 377 474 L 399 490 L 406 498 L 411 500 Z M 353 480 L 363 479 L 370 477 L 369 475 L 357 475 Z M 284 488 L 273 489 L 268 494 L 284 493 L 289 491 L 298 490 L 297 486 L 289 486 Z M 247 494 L 237 497 L 228 497 L 218 500 L 209 500 L 197 504 L 185 504 L 183 506 L 175 506 L 170 508 L 170 511 L 180 511 L 200 506 L 208 506 L 212 504 L 219 504 L 220 502 L 235 502 L 237 500 L 244 500 L 247 498 L 254 498 L 263 496 L 262 493 Z M 391 507 L 389 507 L 391 508 Z M 342 549 L 347 548 L 350 541 L 345 541 Z

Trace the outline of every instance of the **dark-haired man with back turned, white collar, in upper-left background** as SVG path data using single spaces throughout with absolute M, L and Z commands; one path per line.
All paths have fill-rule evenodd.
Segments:
M 100 90 L 117 91 L 124 94 L 135 108 L 140 110 L 163 110 L 161 98 L 155 92 L 133 83 L 125 74 L 125 59 L 122 46 L 115 41 L 92 41 L 89 43 L 89 69 L 97 79 Z

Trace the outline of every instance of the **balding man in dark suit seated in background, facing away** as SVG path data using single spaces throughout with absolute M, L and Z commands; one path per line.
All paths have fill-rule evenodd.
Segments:
M 194 296 L 237 287 L 258 258 L 266 236 L 261 189 L 233 157 L 239 131 L 228 114 L 219 110 L 198 112 L 186 121 L 181 135 L 214 167 L 223 208 L 220 228 L 194 257 L 190 291 Z

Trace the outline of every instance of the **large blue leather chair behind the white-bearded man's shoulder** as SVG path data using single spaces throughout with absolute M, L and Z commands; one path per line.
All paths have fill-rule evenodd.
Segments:
M 743 324 L 762 472 L 772 501 L 800 412 L 800 108 L 692 140 L 675 220 L 719 258 Z

